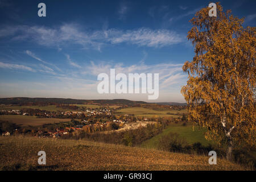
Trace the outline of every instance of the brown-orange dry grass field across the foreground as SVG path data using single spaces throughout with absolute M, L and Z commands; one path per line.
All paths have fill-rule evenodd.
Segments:
M 139 147 L 32 137 L 0 137 L 1 170 L 244 170 L 208 156 L 177 154 Z M 46 152 L 46 165 L 38 152 Z

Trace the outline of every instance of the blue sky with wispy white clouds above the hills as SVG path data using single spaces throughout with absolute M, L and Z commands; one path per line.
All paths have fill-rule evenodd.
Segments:
M 38 4 L 46 4 L 46 17 Z M 255 27 L 256 1 L 220 1 Z M 185 102 L 189 20 L 209 1 L 0 0 L 0 97 Z M 100 73 L 159 73 L 159 97 L 99 94 Z

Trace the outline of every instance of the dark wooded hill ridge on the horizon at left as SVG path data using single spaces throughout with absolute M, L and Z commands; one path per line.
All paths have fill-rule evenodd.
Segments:
M 114 100 L 80 100 L 72 98 L 30 98 L 30 97 L 11 97 L 11 98 L 0 98 L 0 104 L 5 105 L 19 105 L 29 103 L 55 103 L 55 104 L 146 104 L 143 101 L 130 101 L 125 99 L 114 99 Z

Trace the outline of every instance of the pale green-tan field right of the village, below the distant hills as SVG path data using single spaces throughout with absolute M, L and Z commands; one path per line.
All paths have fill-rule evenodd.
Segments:
M 143 117 L 181 117 L 183 113 L 187 113 L 187 110 L 153 110 L 144 107 L 127 107 L 125 109 L 117 110 L 118 114 L 134 114 Z M 173 113 L 173 114 L 168 114 Z M 174 115 L 179 113 L 181 115 Z

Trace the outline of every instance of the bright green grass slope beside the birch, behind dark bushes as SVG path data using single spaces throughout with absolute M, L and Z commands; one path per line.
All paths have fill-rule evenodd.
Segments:
M 195 130 L 193 131 L 192 126 L 193 125 L 191 123 L 188 123 L 187 126 L 182 126 L 181 123 L 171 123 L 166 127 L 166 129 L 163 130 L 162 133 L 144 141 L 142 143 L 142 147 L 157 148 L 159 139 L 163 135 L 168 135 L 170 133 L 179 134 L 180 137 L 185 138 L 189 144 L 196 142 L 200 142 L 203 146 L 208 146 L 209 143 L 213 144 L 204 138 L 205 129 L 199 130 L 199 127 L 195 126 Z

